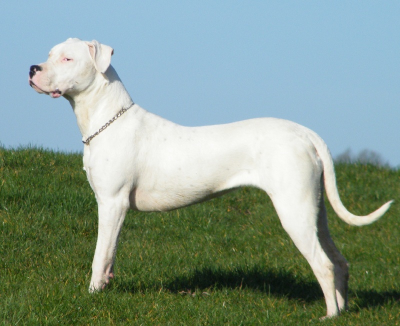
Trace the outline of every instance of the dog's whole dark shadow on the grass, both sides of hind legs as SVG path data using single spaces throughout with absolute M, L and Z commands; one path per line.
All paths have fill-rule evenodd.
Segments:
M 139 285 L 134 280 L 119 282 L 117 290 L 125 292 L 140 292 L 154 289 L 159 291 L 160 283 L 153 282 L 148 285 Z M 317 281 L 305 280 L 297 277 L 292 272 L 284 269 L 264 269 L 259 266 L 250 268 L 236 267 L 233 270 L 203 267 L 195 269 L 189 275 L 178 275 L 162 284 L 162 290 L 171 293 L 195 292 L 203 293 L 222 288 L 252 289 L 276 297 L 313 302 L 323 298 L 321 288 Z M 383 306 L 388 302 L 400 301 L 400 291 L 363 290 L 349 292 L 349 311 L 357 312 L 364 308 Z

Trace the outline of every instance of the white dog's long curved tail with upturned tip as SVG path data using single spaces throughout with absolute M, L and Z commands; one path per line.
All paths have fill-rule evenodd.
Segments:
M 356 226 L 367 225 L 380 218 L 386 212 L 386 210 L 389 209 L 393 200 L 386 202 L 378 209 L 365 216 L 357 216 L 350 213 L 340 200 L 336 186 L 336 176 L 334 173 L 332 155 L 330 154 L 326 143 L 313 131 L 311 131 L 310 137 L 318 156 L 322 160 L 323 181 L 325 185 L 326 196 L 336 214 L 347 224 Z

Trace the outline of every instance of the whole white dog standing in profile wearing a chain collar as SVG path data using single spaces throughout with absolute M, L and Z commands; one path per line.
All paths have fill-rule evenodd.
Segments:
M 346 309 L 348 266 L 329 235 L 323 189 L 337 215 L 352 225 L 375 221 L 391 201 L 366 216 L 348 212 L 326 144 L 294 122 L 257 118 L 185 127 L 147 112 L 133 103 L 110 65 L 112 53 L 96 40 L 69 38 L 29 72 L 37 92 L 68 99 L 82 134 L 83 166 L 98 203 L 89 290 L 104 288 L 114 276 L 128 208 L 165 211 L 252 185 L 270 196 L 310 264 L 327 316 Z

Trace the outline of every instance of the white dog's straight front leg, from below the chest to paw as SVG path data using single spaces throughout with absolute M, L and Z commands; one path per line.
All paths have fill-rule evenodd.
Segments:
M 113 263 L 116 253 L 119 232 L 125 218 L 128 205 L 116 198 L 99 199 L 98 234 L 96 250 L 92 263 L 92 274 L 89 291 L 103 289 L 114 277 Z

